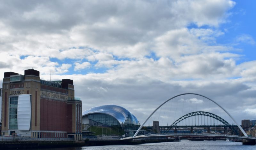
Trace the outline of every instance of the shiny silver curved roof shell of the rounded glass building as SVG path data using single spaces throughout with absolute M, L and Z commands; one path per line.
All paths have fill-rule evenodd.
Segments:
M 131 114 L 127 109 L 121 106 L 116 105 L 103 105 L 103 106 L 97 106 L 92 107 L 90 109 L 85 110 L 82 115 L 88 115 L 88 114 L 95 114 L 95 113 L 101 113 L 101 114 L 108 114 L 116 118 L 118 122 L 122 124 L 135 124 L 139 125 L 139 122 L 137 118 Z

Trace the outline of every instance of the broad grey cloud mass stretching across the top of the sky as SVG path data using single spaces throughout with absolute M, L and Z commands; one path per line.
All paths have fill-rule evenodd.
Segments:
M 138 58 L 148 55 L 152 41 L 167 31 L 179 30 L 191 22 L 218 26 L 234 4 L 226 0 L 72 1 L 72 4 L 44 1 L 30 2 L 27 6 L 16 1 L 2 4 L 0 18 L 5 29 L 11 28 L 6 34 L 15 39 L 10 46 L 22 50 L 24 55 L 44 55 L 33 51 L 36 47 L 59 58 L 58 50 L 82 46 L 118 57 Z

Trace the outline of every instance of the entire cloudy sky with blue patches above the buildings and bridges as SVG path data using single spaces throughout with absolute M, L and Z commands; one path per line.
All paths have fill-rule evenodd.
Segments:
M 33 68 L 43 80 L 74 80 L 83 111 L 119 105 L 143 122 L 165 100 L 193 92 L 215 100 L 239 123 L 253 120 L 255 5 L 254 0 L 0 0 L 0 87 L 4 72 L 24 75 Z M 163 108 L 159 117 L 216 111 L 208 103 L 184 96 L 164 107 L 169 116 Z

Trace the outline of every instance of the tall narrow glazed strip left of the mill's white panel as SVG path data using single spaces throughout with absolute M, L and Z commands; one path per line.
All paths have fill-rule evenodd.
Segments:
M 9 105 L 10 105 L 9 129 L 18 129 L 18 123 L 17 123 L 18 97 L 10 97 Z

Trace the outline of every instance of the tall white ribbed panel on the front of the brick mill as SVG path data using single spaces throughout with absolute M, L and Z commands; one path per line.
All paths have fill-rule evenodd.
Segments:
M 29 94 L 21 94 L 17 107 L 18 130 L 29 131 L 31 121 L 31 101 Z

